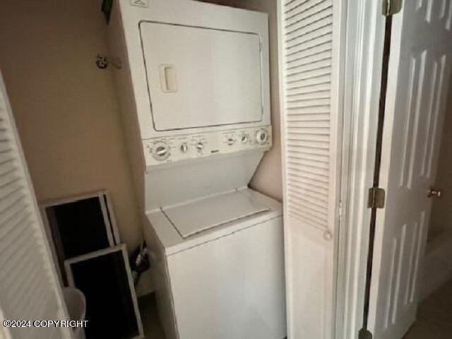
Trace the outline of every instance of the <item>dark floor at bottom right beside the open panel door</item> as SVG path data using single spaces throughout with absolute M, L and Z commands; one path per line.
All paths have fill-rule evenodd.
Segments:
M 403 339 L 451 338 L 452 280 L 449 280 L 420 304 L 417 321 Z

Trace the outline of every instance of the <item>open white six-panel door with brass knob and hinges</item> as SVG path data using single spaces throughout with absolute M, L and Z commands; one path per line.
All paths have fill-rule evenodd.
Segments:
M 415 321 L 439 136 L 452 64 L 452 1 L 407 0 L 393 16 L 369 330 L 403 336 Z M 451 126 L 446 126 L 451 128 Z

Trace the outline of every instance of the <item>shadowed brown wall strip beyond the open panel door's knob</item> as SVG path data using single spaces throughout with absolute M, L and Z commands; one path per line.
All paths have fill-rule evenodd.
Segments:
M 431 238 L 442 231 L 452 231 L 452 79 L 441 136 L 441 150 L 435 186 L 443 191 L 443 196 L 441 199 L 435 199 L 433 203 L 429 230 L 429 237 Z

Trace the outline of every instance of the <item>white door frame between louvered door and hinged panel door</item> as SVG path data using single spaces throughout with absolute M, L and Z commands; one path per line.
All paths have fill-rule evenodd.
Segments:
M 347 6 L 335 338 L 358 338 L 363 322 L 385 22 L 382 1 Z

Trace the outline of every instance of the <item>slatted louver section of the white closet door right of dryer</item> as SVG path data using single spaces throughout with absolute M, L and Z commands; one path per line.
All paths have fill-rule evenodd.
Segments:
M 283 5 L 287 213 L 328 230 L 333 0 Z

